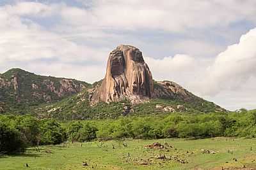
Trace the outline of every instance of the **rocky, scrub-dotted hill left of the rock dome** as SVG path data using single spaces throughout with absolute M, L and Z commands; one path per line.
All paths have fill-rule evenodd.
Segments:
M 10 69 L 0 74 L 0 103 L 11 108 L 18 107 L 19 110 L 19 106 L 26 108 L 26 106 L 58 101 L 89 86 L 83 81 L 38 76 L 22 69 Z

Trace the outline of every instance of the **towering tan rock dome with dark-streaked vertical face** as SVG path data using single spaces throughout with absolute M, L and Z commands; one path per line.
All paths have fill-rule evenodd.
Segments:
M 119 45 L 109 54 L 106 76 L 95 90 L 92 102 L 131 101 L 154 95 L 154 81 L 141 51 L 131 45 Z

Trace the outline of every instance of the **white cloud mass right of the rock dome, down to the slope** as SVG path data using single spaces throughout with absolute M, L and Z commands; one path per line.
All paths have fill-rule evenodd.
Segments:
M 256 28 L 214 60 L 175 55 L 146 58 L 155 78 L 174 80 L 230 110 L 256 108 Z M 203 49 L 204 50 L 204 49 Z

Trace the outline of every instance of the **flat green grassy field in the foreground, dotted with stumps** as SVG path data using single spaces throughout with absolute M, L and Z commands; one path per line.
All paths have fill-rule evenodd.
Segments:
M 160 148 L 145 148 L 159 142 Z M 127 144 L 127 145 L 126 145 Z M 204 151 L 203 151 L 204 150 Z M 203 153 L 216 152 L 216 153 Z M 84 163 L 83 163 L 84 162 Z M 85 162 L 88 166 L 83 166 Z M 28 164 L 29 167 L 26 167 Z M 256 139 L 158 139 L 65 143 L 0 158 L 0 169 L 234 169 L 256 167 Z

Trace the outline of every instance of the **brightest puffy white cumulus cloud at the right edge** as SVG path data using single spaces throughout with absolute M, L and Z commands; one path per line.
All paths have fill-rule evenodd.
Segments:
M 216 94 L 242 87 L 256 76 L 256 28 L 241 36 L 239 43 L 228 46 L 212 66 L 207 68 L 202 82 L 202 94 Z M 243 90 L 243 89 L 241 89 Z

